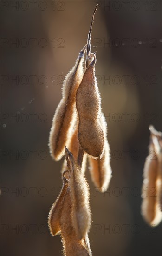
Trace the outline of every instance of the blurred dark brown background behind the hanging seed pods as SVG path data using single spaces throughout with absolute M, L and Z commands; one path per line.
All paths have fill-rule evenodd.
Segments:
M 162 3 L 126 2 L 0 2 L 2 256 L 62 253 L 47 216 L 62 186 L 63 160 L 52 161 L 48 136 L 62 81 L 86 43 L 96 3 L 91 44 L 113 177 L 109 193 L 96 194 L 86 171 L 91 249 L 94 256 L 162 254 L 162 225 L 150 228 L 140 213 L 148 126 L 162 130 Z

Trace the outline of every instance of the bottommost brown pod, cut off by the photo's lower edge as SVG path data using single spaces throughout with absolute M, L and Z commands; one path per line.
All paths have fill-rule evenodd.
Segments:
M 91 256 L 91 251 L 87 248 L 85 239 L 79 240 L 76 236 L 75 229 L 72 225 L 72 200 L 70 188 L 65 195 L 65 200 L 62 208 L 60 224 L 61 237 L 65 256 Z

